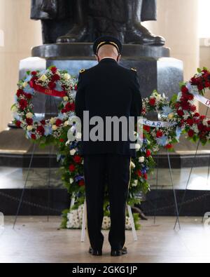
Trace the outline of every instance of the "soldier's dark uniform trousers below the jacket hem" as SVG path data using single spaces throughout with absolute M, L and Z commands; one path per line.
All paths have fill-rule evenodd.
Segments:
M 104 191 L 109 192 L 111 249 L 120 250 L 125 245 L 125 216 L 130 183 L 130 156 L 120 154 L 96 154 L 84 156 L 85 194 L 87 202 L 87 229 L 90 245 L 102 250 L 104 236 Z

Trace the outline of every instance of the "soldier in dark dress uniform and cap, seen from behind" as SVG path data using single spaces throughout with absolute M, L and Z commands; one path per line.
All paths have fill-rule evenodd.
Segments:
M 90 119 L 100 116 L 106 122 L 107 116 L 118 119 L 125 116 L 141 116 L 141 93 L 136 69 L 118 65 L 122 44 L 111 36 L 102 36 L 94 42 L 94 55 L 98 65 L 80 71 L 76 93 L 76 115 L 83 121 L 83 112 L 88 111 Z M 85 123 L 86 124 L 86 123 Z M 94 126 L 90 127 L 92 130 Z M 81 154 L 84 156 L 85 194 L 87 203 L 87 229 L 92 255 L 102 255 L 104 236 L 104 187 L 107 182 L 111 212 L 109 243 L 111 255 L 127 253 L 125 248 L 125 210 L 130 184 L 130 158 L 136 155 L 131 149 L 130 139 L 106 141 L 82 140 Z M 113 131 L 113 130 L 112 130 Z M 123 130 L 119 130 L 122 134 Z M 124 134 L 125 135 L 125 134 Z

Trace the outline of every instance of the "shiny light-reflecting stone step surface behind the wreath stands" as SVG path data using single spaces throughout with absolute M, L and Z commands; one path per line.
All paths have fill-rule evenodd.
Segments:
M 188 189 L 210 190 L 210 177 L 208 180 L 208 170 L 209 168 L 207 167 L 194 168 Z M 172 172 L 174 178 L 174 187 L 176 189 L 185 189 L 190 173 L 190 168 L 173 169 Z M 25 184 L 26 176 L 27 169 L 0 167 L 0 189 L 20 189 Z M 48 176 L 48 168 L 32 168 L 29 173 L 27 187 L 48 187 Z M 148 182 L 151 184 L 152 189 L 156 188 L 156 170 L 153 175 L 149 176 Z M 62 187 L 62 181 L 60 180 L 56 168 L 52 168 L 51 170 L 50 187 Z M 159 169 L 158 189 L 172 189 L 168 169 Z

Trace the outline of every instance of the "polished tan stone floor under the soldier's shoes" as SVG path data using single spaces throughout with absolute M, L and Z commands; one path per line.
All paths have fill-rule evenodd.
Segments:
M 210 262 L 210 227 L 204 228 L 201 218 L 181 218 L 181 231 L 174 231 L 174 217 L 158 217 L 141 222 L 138 241 L 127 231 L 128 255 L 110 257 L 108 232 L 104 231 L 104 255 L 87 253 L 89 243 L 80 243 L 80 230 L 59 230 L 60 217 L 19 217 L 13 230 L 13 217 L 5 218 L 0 228 L 0 262 L 73 263 L 73 262 L 139 262 L 139 263 L 202 263 Z M 1 224 L 1 223 L 0 223 Z

